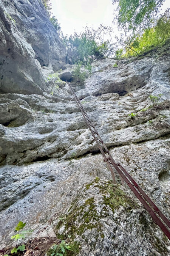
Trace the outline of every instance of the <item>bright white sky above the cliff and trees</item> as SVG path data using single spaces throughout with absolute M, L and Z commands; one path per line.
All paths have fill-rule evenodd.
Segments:
M 161 13 L 170 7 L 168 2 L 165 0 Z M 119 35 L 117 27 L 112 24 L 114 6 L 111 0 L 51 0 L 51 3 L 64 35 L 73 34 L 74 30 L 80 32 L 86 25 L 97 27 L 101 23 L 113 26 L 113 33 Z

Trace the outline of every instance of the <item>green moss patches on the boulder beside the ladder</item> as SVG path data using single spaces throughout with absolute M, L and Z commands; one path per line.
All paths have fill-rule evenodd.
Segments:
M 87 198 L 83 203 L 82 196 L 77 195 L 68 214 L 63 215 L 56 227 L 57 238 L 68 239 L 74 241 L 76 236 L 82 236 L 85 239 L 84 232 L 89 229 L 95 228 L 98 232 L 98 236 L 104 238 L 104 233 L 102 232 L 102 223 L 100 218 L 107 217 L 109 215 L 109 210 L 111 209 L 114 213 L 115 209 L 120 206 L 127 207 L 128 210 L 133 208 L 136 209 L 138 206 L 133 200 L 131 200 L 125 193 L 120 189 L 119 185 L 114 185 L 113 181 L 100 181 L 99 177 L 96 177 L 93 182 L 85 185 L 84 192 L 93 186 L 97 188 L 97 191 L 103 196 L 103 203 L 100 204 L 102 209 L 102 215 L 97 212 L 97 205 L 94 197 Z M 99 190 L 98 190 L 99 189 Z M 58 234 L 58 230 L 65 226 L 65 230 L 62 235 Z

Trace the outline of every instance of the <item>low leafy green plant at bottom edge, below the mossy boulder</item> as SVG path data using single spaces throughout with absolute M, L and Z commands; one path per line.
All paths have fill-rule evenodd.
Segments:
M 66 243 L 65 240 L 59 245 L 53 245 L 52 248 L 47 252 L 48 256 L 65 256 L 65 255 L 74 255 L 79 252 L 79 245 L 77 242 Z

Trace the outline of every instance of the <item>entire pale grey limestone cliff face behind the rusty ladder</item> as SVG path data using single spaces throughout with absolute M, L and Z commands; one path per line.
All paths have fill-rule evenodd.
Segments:
M 0 249 L 21 220 L 34 229 L 31 239 L 71 237 L 81 256 L 168 255 L 170 243 L 133 193 L 117 175 L 111 183 L 76 102 L 66 104 L 73 96 L 58 77 L 71 80 L 73 67 L 41 1 L 0 0 L 0 17 Z M 143 58 L 96 61 L 83 86 L 71 83 L 114 159 L 167 217 L 168 53 L 166 46 Z

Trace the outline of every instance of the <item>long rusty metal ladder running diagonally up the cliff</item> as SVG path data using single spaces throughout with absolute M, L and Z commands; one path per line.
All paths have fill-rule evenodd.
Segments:
M 104 157 L 104 162 L 107 162 L 108 168 L 111 172 L 113 183 L 116 183 L 116 178 L 115 178 L 112 166 L 116 169 L 117 173 L 119 173 L 119 176 L 121 177 L 122 185 L 124 185 L 124 182 L 125 182 L 128 185 L 128 187 L 130 187 L 130 189 L 133 191 L 134 195 L 143 204 L 143 206 L 148 211 L 148 213 L 151 215 L 151 217 L 153 218 L 155 223 L 162 229 L 162 231 L 168 237 L 168 239 L 170 239 L 170 231 L 168 230 L 168 228 L 170 228 L 170 221 L 167 219 L 167 217 L 165 217 L 165 215 L 161 212 L 161 210 L 159 210 L 159 208 L 153 203 L 153 201 L 146 195 L 146 193 L 142 190 L 142 188 L 139 187 L 139 185 L 134 181 L 134 179 L 130 176 L 130 174 L 124 169 L 124 167 L 120 163 L 115 162 L 115 160 L 113 159 L 112 155 L 110 154 L 106 144 L 100 137 L 96 128 L 92 124 L 89 116 L 87 115 L 87 112 L 83 108 L 80 100 L 76 96 L 76 93 L 74 92 L 70 83 L 67 82 L 67 85 L 69 86 L 69 88 L 74 96 L 74 99 L 76 100 L 76 103 L 83 115 L 83 118 L 85 119 L 87 126 L 90 129 L 91 134 L 93 135 L 94 140 L 96 141 L 96 144 Z M 158 216 L 164 221 L 164 223 L 168 226 L 168 228 L 167 228 L 167 226 L 165 226 L 165 224 L 162 222 L 162 220 Z

